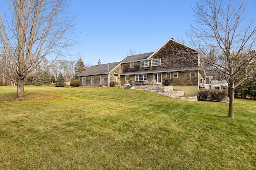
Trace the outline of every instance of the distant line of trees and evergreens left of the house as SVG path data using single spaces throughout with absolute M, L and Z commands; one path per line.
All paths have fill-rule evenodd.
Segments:
M 4 58 L 0 55 L 0 60 Z M 4 63 L 4 62 L 1 62 Z M 76 61 L 56 61 L 48 66 L 47 61 L 42 62 L 34 72 L 31 72 L 25 80 L 25 85 L 56 85 L 66 86 L 72 80 L 78 80 L 78 74 L 90 67 L 90 63 L 84 63 L 80 58 Z M 4 64 L 0 67 L 4 69 Z M 0 70 L 0 86 L 14 86 L 15 83 L 3 71 Z

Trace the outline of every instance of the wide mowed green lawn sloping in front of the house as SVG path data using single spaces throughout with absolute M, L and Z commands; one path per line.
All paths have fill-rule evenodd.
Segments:
M 0 87 L 0 169 L 256 169 L 256 101 L 122 88 Z

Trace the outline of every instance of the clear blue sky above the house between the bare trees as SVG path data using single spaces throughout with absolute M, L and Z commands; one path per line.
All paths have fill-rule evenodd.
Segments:
M 136 54 L 156 51 L 168 39 L 183 38 L 193 22 L 196 0 L 74 0 L 76 16 L 74 53 L 85 63 L 121 61 L 132 49 Z

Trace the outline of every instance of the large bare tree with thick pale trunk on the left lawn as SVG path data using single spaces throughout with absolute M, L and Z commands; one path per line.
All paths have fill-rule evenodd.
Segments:
M 7 0 L 9 14 L 0 14 L 0 44 L 6 74 L 17 84 L 17 99 L 24 99 L 24 79 L 47 58 L 50 66 L 74 41 L 69 37 L 72 17 L 68 0 Z M 12 76 L 12 72 L 15 76 Z

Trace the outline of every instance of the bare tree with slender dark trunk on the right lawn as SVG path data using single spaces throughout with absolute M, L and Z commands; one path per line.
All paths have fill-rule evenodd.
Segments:
M 234 91 L 244 81 L 255 79 L 255 15 L 250 18 L 246 1 L 200 0 L 193 10 L 196 20 L 188 36 L 202 51 L 204 63 L 228 81 L 228 117 L 234 118 Z

